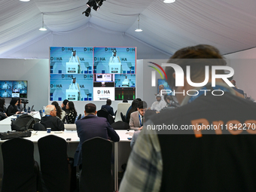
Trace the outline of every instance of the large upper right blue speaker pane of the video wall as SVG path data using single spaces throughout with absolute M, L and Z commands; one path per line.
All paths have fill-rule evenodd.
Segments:
M 93 47 L 93 72 L 136 74 L 136 47 Z

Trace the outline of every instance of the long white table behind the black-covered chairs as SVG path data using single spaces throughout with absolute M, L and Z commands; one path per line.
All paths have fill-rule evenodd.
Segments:
M 1 127 L 1 126 L 0 126 Z M 126 163 L 128 157 L 130 155 L 130 140 L 127 138 L 133 136 L 133 130 L 126 131 L 126 130 L 116 130 L 118 136 L 120 137 L 120 142 L 114 143 L 114 190 L 118 190 L 118 172 L 122 170 L 121 166 L 123 163 Z M 75 150 L 79 143 L 78 134 L 76 131 L 52 131 L 51 133 L 46 133 L 46 131 L 32 131 L 32 136 L 27 137 L 28 139 L 34 143 L 34 158 L 40 164 L 40 157 L 38 152 L 38 139 L 44 136 L 55 135 L 59 136 L 63 139 L 70 138 L 71 141 L 67 141 L 67 153 L 69 157 L 74 157 Z M 0 140 L 0 145 L 2 145 Z M 2 160 L 2 148 L 0 148 L 0 177 L 2 178 L 2 170 L 3 170 L 3 160 Z

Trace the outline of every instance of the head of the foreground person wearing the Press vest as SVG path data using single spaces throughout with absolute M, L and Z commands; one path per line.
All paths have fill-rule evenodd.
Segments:
M 190 66 L 190 80 L 194 83 L 201 83 L 205 80 L 205 68 L 209 66 L 209 82 L 212 79 L 212 66 L 225 66 L 226 62 L 219 50 L 208 44 L 199 44 L 193 47 L 184 47 L 177 50 L 169 59 L 168 63 L 175 63 L 180 66 L 184 72 L 184 86 L 175 87 L 175 70 L 172 67 L 166 67 L 166 75 L 168 84 L 173 87 L 176 92 L 194 90 L 194 87 L 187 83 L 186 72 L 187 66 Z M 218 74 L 224 74 L 224 70 L 218 70 Z M 216 79 L 216 81 L 222 81 Z M 223 82 L 223 81 L 222 81 Z M 184 99 L 184 94 L 176 94 L 178 102 Z

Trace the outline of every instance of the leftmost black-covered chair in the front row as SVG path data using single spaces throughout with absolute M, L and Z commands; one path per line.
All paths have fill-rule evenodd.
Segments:
M 4 175 L 2 192 L 41 191 L 33 142 L 14 138 L 2 144 Z

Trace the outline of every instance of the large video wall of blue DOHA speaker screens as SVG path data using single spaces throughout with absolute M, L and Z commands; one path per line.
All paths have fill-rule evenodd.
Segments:
M 136 47 L 50 47 L 50 101 L 135 96 Z

